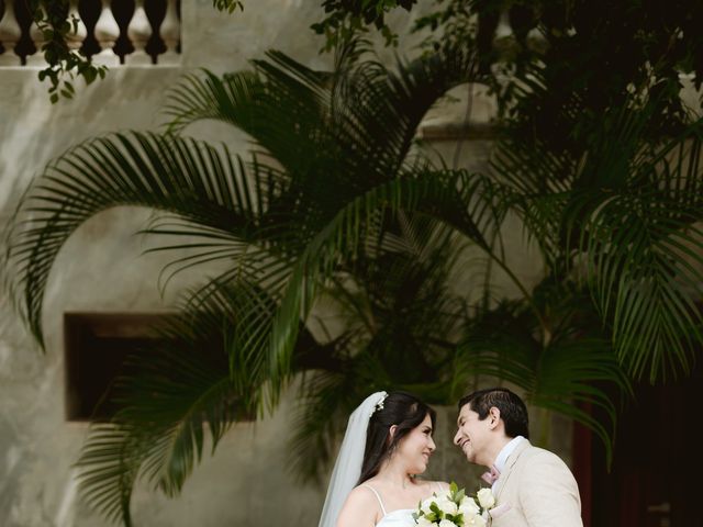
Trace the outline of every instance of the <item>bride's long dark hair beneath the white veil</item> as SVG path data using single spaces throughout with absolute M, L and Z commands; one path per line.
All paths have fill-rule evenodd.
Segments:
M 432 419 L 432 428 L 434 429 L 437 417 L 434 410 L 410 393 L 391 392 L 383 401 L 383 407 L 373 412 L 369 419 L 361 476 L 357 484 L 373 478 L 381 463 L 388 459 L 400 440 L 413 428 L 420 426 L 427 415 Z M 393 425 L 398 428 L 391 437 L 390 428 Z

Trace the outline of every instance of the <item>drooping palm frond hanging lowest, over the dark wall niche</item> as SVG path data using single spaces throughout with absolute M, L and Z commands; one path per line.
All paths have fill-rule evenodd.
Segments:
M 216 445 L 232 421 L 246 415 L 235 403 L 223 315 L 179 315 L 159 328 L 153 347 L 129 359 L 115 384 L 122 410 L 111 423 L 93 425 L 77 462 L 81 494 L 109 520 L 132 525 L 138 478 L 176 494 L 202 456 L 203 428 Z

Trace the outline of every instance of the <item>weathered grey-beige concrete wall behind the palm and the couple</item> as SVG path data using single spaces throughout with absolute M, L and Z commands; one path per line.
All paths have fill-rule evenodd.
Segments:
M 104 81 L 80 90 L 75 101 L 56 105 L 48 102 L 47 87 L 36 80 L 35 69 L 0 69 L 0 227 L 30 180 L 70 145 L 108 131 L 155 128 L 161 122 L 157 109 L 164 91 L 188 70 L 236 70 L 271 47 L 314 67 L 327 65 L 330 57 L 317 54 L 322 42 L 309 30 L 320 16 L 317 3 L 255 0 L 246 2 L 244 13 L 226 15 L 214 11 L 211 0 L 185 0 L 181 66 L 115 68 Z M 409 22 L 399 18 L 398 23 Z M 486 120 L 490 100 L 481 101 L 483 105 L 476 106 L 483 113 L 477 119 Z M 448 110 L 433 119 L 436 124 L 456 120 L 456 115 Z M 245 146 L 241 136 L 220 126 L 198 125 L 192 132 L 219 138 L 228 134 L 226 141 L 242 149 Z M 456 144 L 438 142 L 435 146 L 451 156 Z M 480 166 L 489 147 L 487 142 L 465 145 L 459 162 Z M 2 527 L 104 525 L 76 497 L 70 467 L 87 426 L 64 417 L 63 313 L 161 311 L 172 305 L 181 288 L 197 280 L 181 276 L 176 287 L 159 294 L 156 277 L 164 260 L 140 256 L 143 239 L 133 234 L 147 214 L 104 212 L 81 227 L 62 250 L 46 295 L 45 355 L 18 321 L 10 299 L 0 293 Z M 528 266 L 525 276 L 535 276 L 537 270 Z M 136 525 L 316 525 L 324 490 L 295 484 L 284 470 L 291 408 L 289 401 L 272 418 L 235 426 L 214 457 L 205 457 L 178 500 L 140 489 L 133 506 Z M 449 445 L 454 408 L 445 408 L 440 416 L 442 447 L 431 475 L 472 485 L 471 472 Z

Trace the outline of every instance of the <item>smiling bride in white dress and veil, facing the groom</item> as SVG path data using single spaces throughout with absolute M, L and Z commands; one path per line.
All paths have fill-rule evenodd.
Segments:
M 435 411 L 404 392 L 369 395 L 349 416 L 319 527 L 412 527 L 445 482 L 416 478 L 435 450 Z

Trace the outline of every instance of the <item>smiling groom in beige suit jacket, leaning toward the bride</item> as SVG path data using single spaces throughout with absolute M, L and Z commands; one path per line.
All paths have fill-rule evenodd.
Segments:
M 555 453 L 527 440 L 527 408 L 513 392 L 491 388 L 459 401 L 454 437 L 471 463 L 490 469 L 492 527 L 582 527 L 579 487 Z

